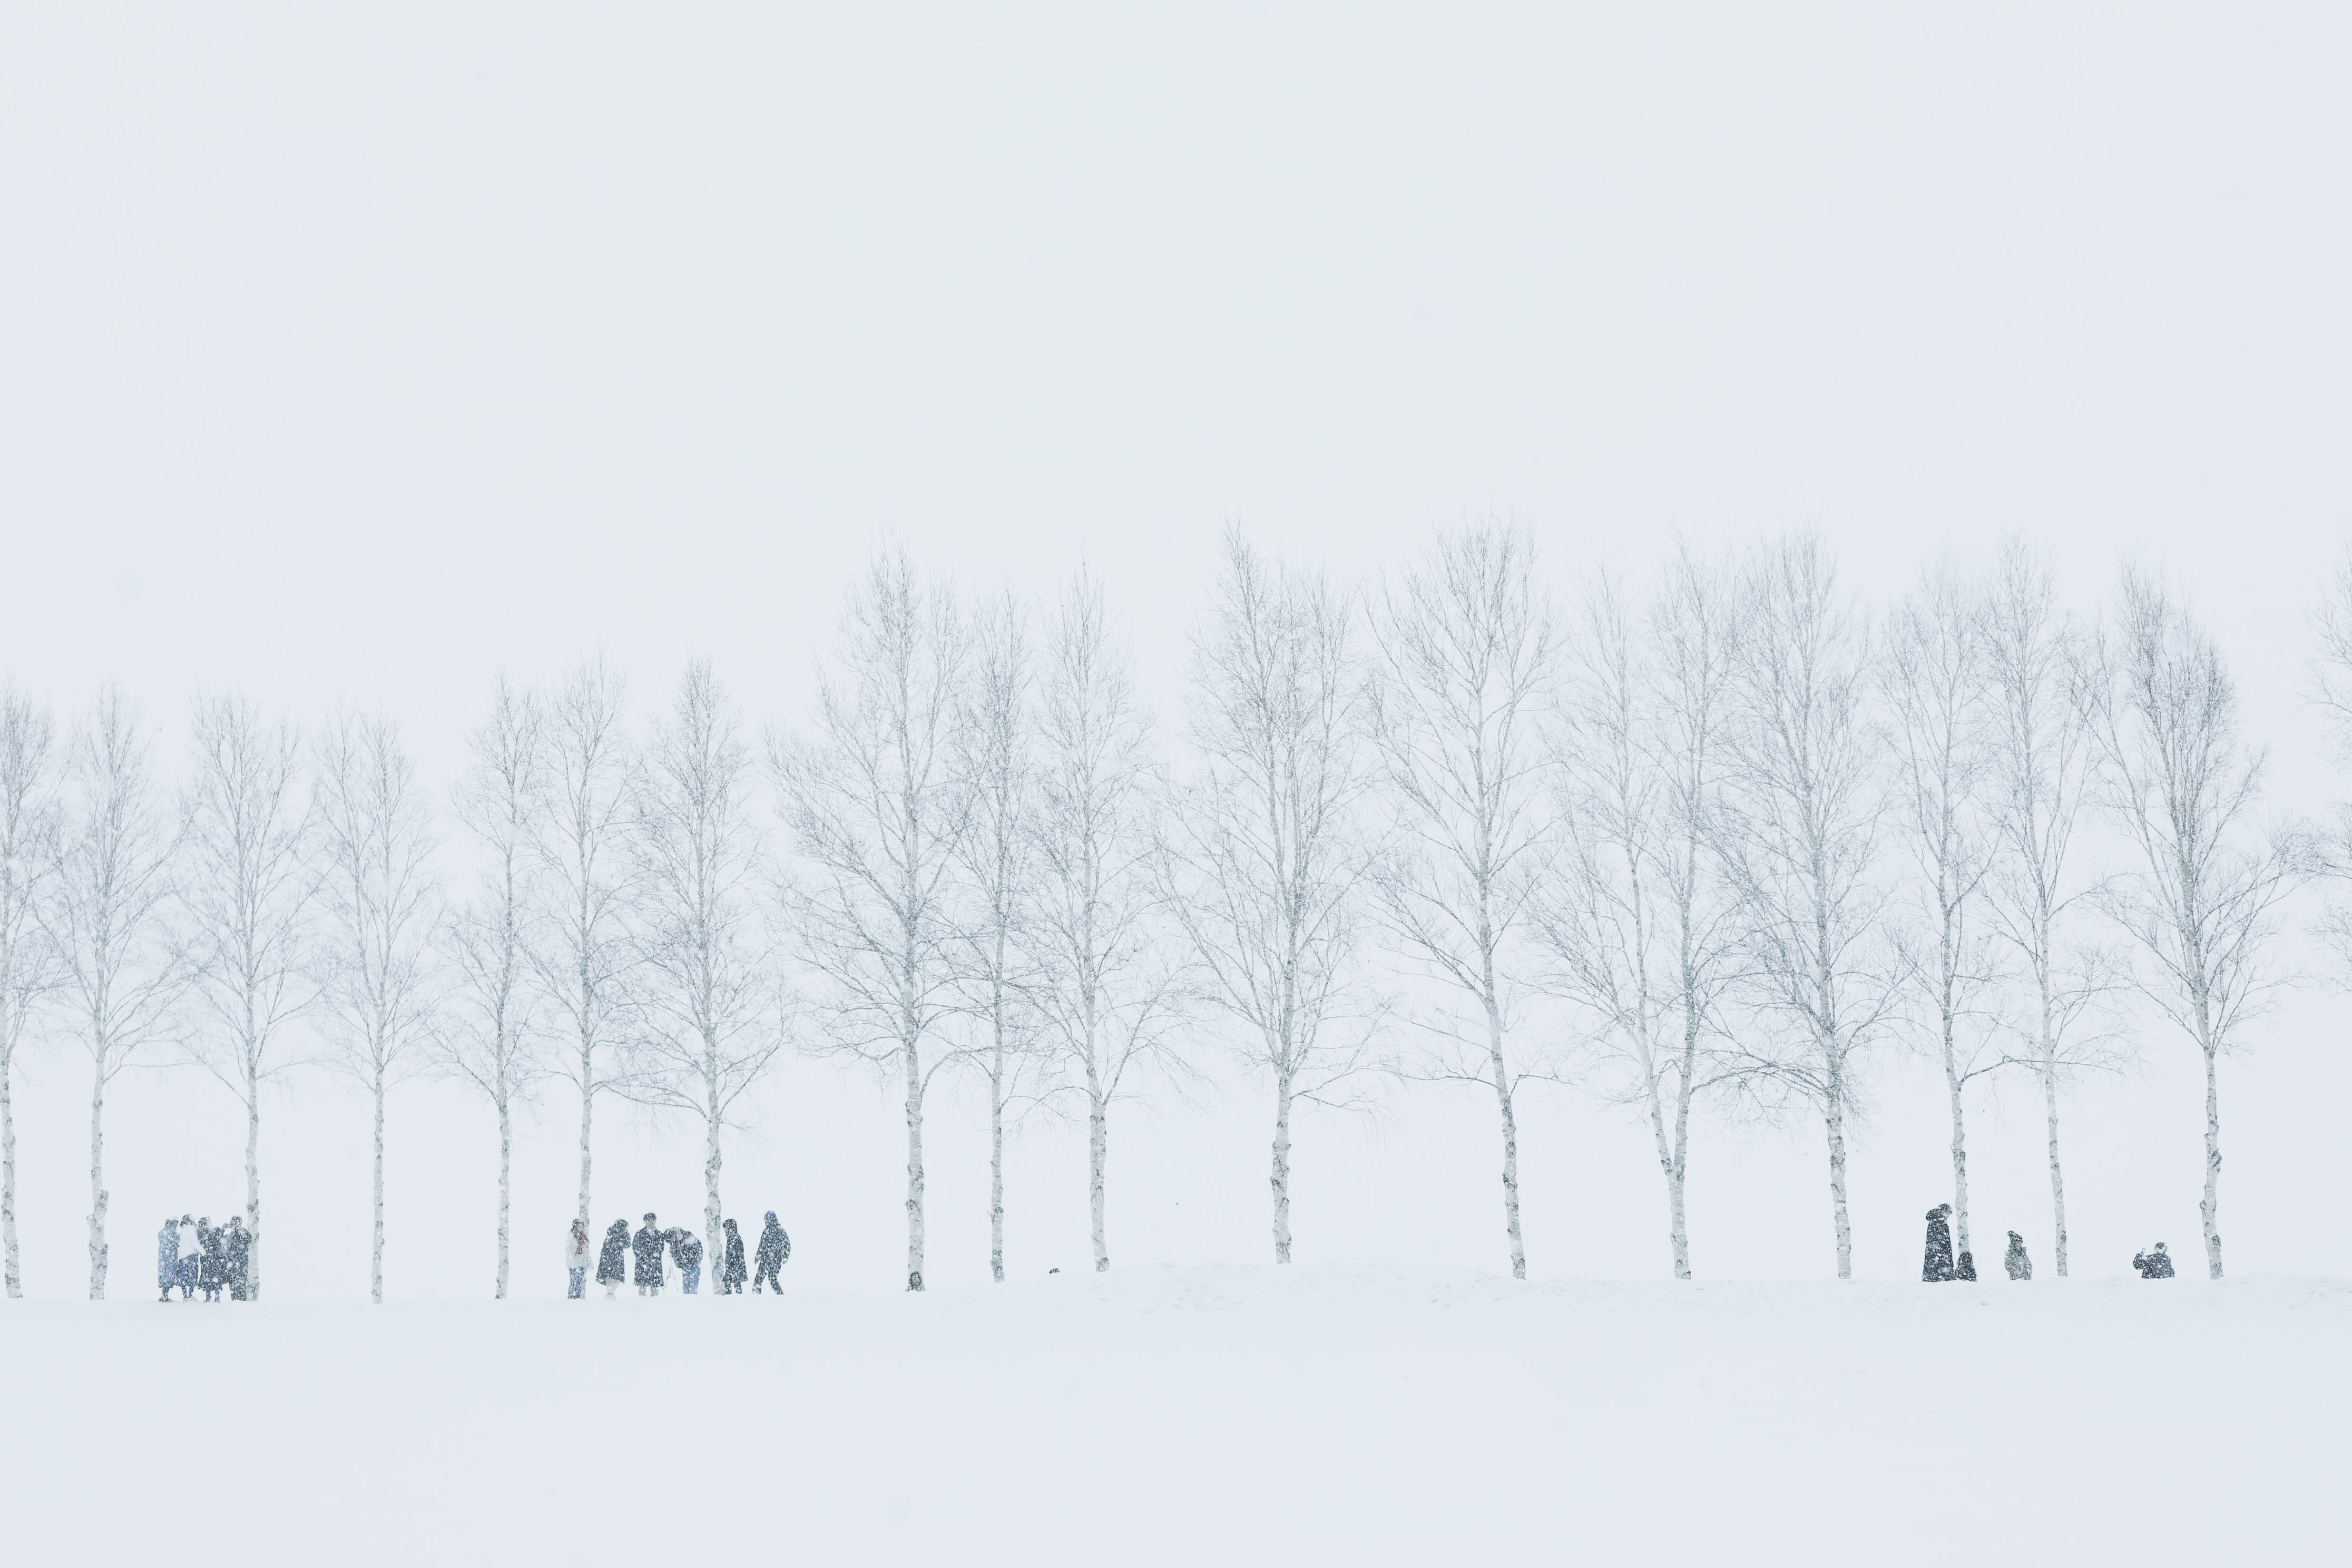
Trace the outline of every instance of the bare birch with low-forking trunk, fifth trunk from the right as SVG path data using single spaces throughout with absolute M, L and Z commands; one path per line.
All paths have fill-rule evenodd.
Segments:
M 1559 788 L 1564 849 L 1538 903 L 1552 985 L 1595 1023 L 1618 1095 L 1649 1121 L 1675 1279 L 1691 1276 L 1691 1107 L 1740 1079 L 1719 1048 L 1736 976 L 1712 835 L 1733 672 L 1726 574 L 1677 548 L 1644 623 L 1602 578 L 1573 639 Z

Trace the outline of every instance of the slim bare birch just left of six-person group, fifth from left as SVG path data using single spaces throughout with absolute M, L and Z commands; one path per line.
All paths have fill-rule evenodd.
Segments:
M 473 898 L 442 926 L 454 985 L 433 1032 L 433 1058 L 445 1074 L 473 1084 L 499 1117 L 496 1300 L 506 1300 L 515 1105 L 548 1072 L 529 954 L 543 875 L 534 844 L 546 790 L 539 703 L 501 675 L 492 686 L 489 719 L 466 738 L 466 750 L 473 762 L 454 806 L 480 853 L 480 872 Z

